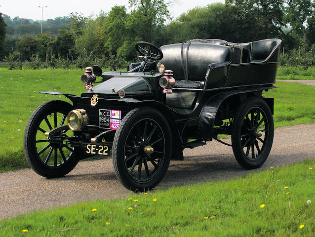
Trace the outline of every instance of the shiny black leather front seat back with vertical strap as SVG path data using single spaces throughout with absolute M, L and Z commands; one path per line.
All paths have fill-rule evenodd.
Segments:
M 175 43 L 160 47 L 163 58 L 159 61 L 166 70 L 172 70 L 176 80 L 185 79 L 185 69 L 188 79 L 203 81 L 211 63 L 229 62 L 231 49 L 227 46 L 211 43 Z

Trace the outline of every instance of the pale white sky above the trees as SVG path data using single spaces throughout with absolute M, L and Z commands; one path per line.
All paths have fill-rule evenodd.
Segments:
M 206 6 L 211 3 L 224 0 L 177 0 L 169 7 L 171 16 L 175 19 L 182 13 L 196 6 Z M 115 5 L 125 5 L 128 11 L 128 0 L 0 0 L 0 12 L 13 19 L 15 16 L 33 20 L 41 20 L 41 8 L 43 8 L 43 20 L 54 19 L 58 16 L 69 16 L 70 12 L 82 13 L 83 16 L 96 16 L 101 10 L 109 12 Z

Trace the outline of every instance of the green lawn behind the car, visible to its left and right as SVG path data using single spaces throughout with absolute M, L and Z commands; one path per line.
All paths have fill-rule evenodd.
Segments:
M 23 152 L 23 134 L 36 107 L 47 100 L 69 101 L 64 96 L 39 94 L 39 91 L 79 95 L 85 91 L 80 81 L 82 72 L 79 69 L 9 71 L 0 68 L 0 172 L 28 167 Z M 315 87 L 286 82 L 276 85 L 279 88 L 264 92 L 264 96 L 275 98 L 276 127 L 315 121 Z

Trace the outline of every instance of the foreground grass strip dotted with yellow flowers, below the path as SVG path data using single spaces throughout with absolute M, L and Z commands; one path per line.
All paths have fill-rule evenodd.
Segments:
M 0 236 L 311 237 L 314 172 L 315 159 L 229 181 L 39 211 L 0 221 Z

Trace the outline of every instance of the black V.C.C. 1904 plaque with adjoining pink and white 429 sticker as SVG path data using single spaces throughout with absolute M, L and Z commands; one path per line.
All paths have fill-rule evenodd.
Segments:
M 98 121 L 100 128 L 116 130 L 120 124 L 120 110 L 99 110 Z

